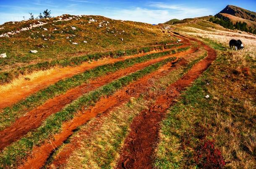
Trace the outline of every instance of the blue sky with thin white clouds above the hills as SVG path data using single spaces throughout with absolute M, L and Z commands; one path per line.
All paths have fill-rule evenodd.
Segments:
M 37 16 L 45 9 L 53 16 L 103 15 L 112 19 L 163 23 L 178 18 L 215 15 L 226 5 L 256 11 L 256 0 L 0 0 L 0 24 Z

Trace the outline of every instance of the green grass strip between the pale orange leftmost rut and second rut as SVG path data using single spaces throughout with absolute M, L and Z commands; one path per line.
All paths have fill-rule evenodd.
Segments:
M 63 80 L 60 80 L 47 88 L 39 90 L 37 93 L 32 94 L 24 100 L 15 103 L 13 106 L 4 108 L 3 112 L 0 114 L 0 130 L 3 130 L 7 126 L 10 126 L 10 124 L 12 124 L 20 116 L 23 116 L 28 111 L 31 111 L 33 108 L 42 105 L 48 99 L 63 94 L 70 88 L 80 86 L 82 83 L 86 83 L 91 78 L 104 76 L 107 73 L 112 73 L 120 69 L 133 66 L 136 63 L 142 63 L 154 58 L 168 55 L 170 53 L 178 53 L 187 49 L 188 48 L 180 48 L 177 50 L 153 53 L 141 57 L 130 58 L 126 59 L 125 61 L 118 61 L 116 63 L 98 66 L 83 73 L 79 73 L 71 78 L 65 78 Z

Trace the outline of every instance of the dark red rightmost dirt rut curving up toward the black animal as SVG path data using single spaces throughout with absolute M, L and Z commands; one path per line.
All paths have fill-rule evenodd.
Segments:
M 158 140 L 160 122 L 165 117 L 167 108 L 175 103 L 174 99 L 180 96 L 196 78 L 208 68 L 216 58 L 214 49 L 203 45 L 208 56 L 197 63 L 181 79 L 171 84 L 166 93 L 159 96 L 153 106 L 138 115 L 131 124 L 131 131 L 125 139 L 118 169 L 152 169 L 152 155 Z

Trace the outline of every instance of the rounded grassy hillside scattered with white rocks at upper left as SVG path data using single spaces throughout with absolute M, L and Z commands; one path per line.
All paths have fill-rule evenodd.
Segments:
M 60 20 L 61 18 L 61 20 Z M 36 27 L 36 24 L 44 24 Z M 20 31 L 22 28 L 34 27 Z M 0 71 L 44 61 L 112 50 L 139 48 L 172 40 L 157 27 L 102 16 L 73 16 L 0 25 Z M 18 32 L 18 33 L 16 33 Z M 29 53 L 37 50 L 38 53 Z

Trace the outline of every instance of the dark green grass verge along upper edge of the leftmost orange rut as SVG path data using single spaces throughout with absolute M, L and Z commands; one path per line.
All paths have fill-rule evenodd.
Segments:
M 119 58 L 125 55 L 135 55 L 138 53 L 146 53 L 152 50 L 163 50 L 164 48 L 178 47 L 182 44 L 171 44 L 171 45 L 161 45 L 161 46 L 149 46 L 139 49 L 128 49 L 128 50 L 115 50 L 106 53 L 95 53 L 83 56 L 77 56 L 73 58 L 65 58 L 61 60 L 45 61 L 42 63 L 37 63 L 34 65 L 24 66 L 15 68 L 11 71 L 5 71 L 0 73 L 0 84 L 10 83 L 13 79 L 18 78 L 19 75 L 24 75 L 32 73 L 33 71 L 47 70 L 54 66 L 78 66 L 84 62 L 98 60 L 100 58 L 112 57 Z

